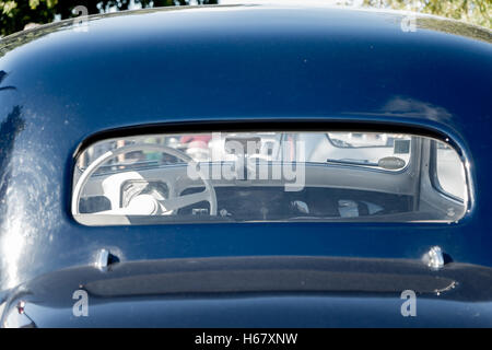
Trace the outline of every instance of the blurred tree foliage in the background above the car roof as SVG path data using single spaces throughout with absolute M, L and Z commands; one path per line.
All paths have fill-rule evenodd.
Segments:
M 220 0 L 0 0 L 0 36 L 32 27 L 35 24 L 77 16 L 78 14 L 73 12 L 77 5 L 84 5 L 89 10 L 89 14 L 95 14 L 133 8 L 220 2 Z M 492 0 L 327 0 L 327 3 L 410 10 L 492 28 Z

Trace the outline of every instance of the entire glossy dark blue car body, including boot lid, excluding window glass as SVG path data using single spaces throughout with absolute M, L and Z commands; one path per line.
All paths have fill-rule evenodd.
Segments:
M 492 34 L 433 16 L 403 31 L 405 16 L 155 9 L 2 38 L 2 325 L 492 326 Z M 70 213 L 74 158 L 97 139 L 340 125 L 448 139 L 468 162 L 465 218 L 84 226 Z M 432 246 L 452 259 L 440 271 L 421 261 Z M 102 248 L 110 271 L 93 267 Z M 72 313 L 78 289 L 87 317 Z

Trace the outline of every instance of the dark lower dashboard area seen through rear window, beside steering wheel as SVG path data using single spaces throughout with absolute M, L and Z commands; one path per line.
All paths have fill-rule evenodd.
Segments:
M 180 196 L 202 191 L 187 188 Z M 283 187 L 216 187 L 218 215 L 234 221 L 286 220 L 295 218 L 359 218 L 410 211 L 411 196 L 374 191 L 307 187 L 284 191 Z M 207 201 L 178 210 L 178 215 L 208 215 Z

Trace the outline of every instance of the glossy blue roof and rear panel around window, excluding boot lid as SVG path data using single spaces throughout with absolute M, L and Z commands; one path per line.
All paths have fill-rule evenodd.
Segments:
M 11 89 L 0 91 L 0 290 L 92 264 L 103 247 L 126 262 L 420 259 L 440 245 L 454 261 L 492 267 L 492 34 L 427 16 L 403 32 L 401 19 L 326 8 L 188 8 L 95 16 L 87 32 L 61 22 L 3 38 L 0 88 Z M 454 224 L 87 228 L 72 219 L 73 154 L 85 138 L 212 120 L 429 128 L 467 156 L 473 207 Z

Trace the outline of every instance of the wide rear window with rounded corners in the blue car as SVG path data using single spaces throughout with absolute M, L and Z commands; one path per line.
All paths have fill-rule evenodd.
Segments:
M 452 222 L 466 184 L 456 150 L 409 133 L 145 135 L 80 152 L 71 210 L 86 225 Z

